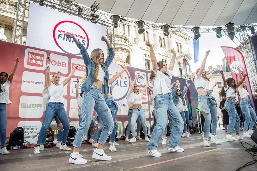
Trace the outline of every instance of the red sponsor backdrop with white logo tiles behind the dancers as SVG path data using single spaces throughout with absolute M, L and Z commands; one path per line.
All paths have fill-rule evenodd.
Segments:
M 74 43 L 75 44 L 75 43 Z M 7 140 L 9 139 L 10 133 L 17 127 L 22 126 L 24 128 L 25 140 L 36 143 L 39 130 L 42 126 L 44 112 L 42 110 L 43 97 L 42 90 L 46 86 L 46 57 L 51 57 L 51 68 L 50 75 L 57 71 L 62 71 L 61 81 L 63 81 L 79 63 L 81 66 L 78 67 L 74 76 L 71 78 L 69 83 L 64 88 L 64 99 L 65 109 L 70 121 L 70 125 L 78 128 L 78 105 L 76 100 L 76 78 L 82 77 L 85 71 L 85 65 L 82 57 L 69 55 L 54 51 L 48 51 L 38 49 L 34 47 L 27 47 L 23 45 L 17 45 L 13 43 L 7 43 L 0 41 L 1 55 L 4 57 L 1 60 L 1 71 L 7 73 L 11 72 L 15 64 L 15 59 L 19 58 L 19 65 L 14 75 L 13 82 L 10 86 L 10 100 L 12 103 L 7 105 Z M 109 77 L 113 77 L 115 73 L 123 70 L 122 65 L 112 63 L 109 67 Z M 118 135 L 124 135 L 125 128 L 128 124 L 128 107 L 126 96 L 128 88 L 130 86 L 130 80 L 138 75 L 136 85 L 142 84 L 143 86 L 147 83 L 150 76 L 150 71 L 136 69 L 128 67 L 127 71 L 124 72 L 113 84 L 113 97 L 115 98 L 118 105 L 117 121 L 119 123 Z M 186 80 L 172 77 L 172 83 L 177 79 L 180 80 L 181 89 L 186 85 Z M 193 109 L 190 109 L 193 116 L 196 116 L 195 108 L 197 106 L 197 92 L 191 81 L 190 94 L 191 94 L 191 105 Z M 79 85 L 81 87 L 81 85 Z M 150 126 L 152 126 L 152 106 L 149 101 L 149 91 L 147 90 L 142 96 L 142 107 L 146 114 L 146 124 L 148 126 L 148 133 L 150 132 Z M 94 114 L 95 115 L 95 112 Z M 193 118 L 196 119 L 196 118 Z M 57 127 L 55 120 L 52 122 L 52 128 L 57 133 Z M 55 139 L 57 136 L 55 136 Z

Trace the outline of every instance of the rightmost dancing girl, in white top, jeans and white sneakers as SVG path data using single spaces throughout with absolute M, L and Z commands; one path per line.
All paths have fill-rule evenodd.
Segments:
M 239 72 L 239 78 L 243 79 L 240 68 L 237 68 L 237 70 Z M 245 81 L 243 81 L 243 84 L 241 84 L 238 87 L 238 93 L 242 98 L 240 107 L 242 111 L 244 111 L 244 115 L 245 115 L 243 137 L 251 137 L 253 133 L 252 128 L 256 122 L 256 113 L 254 112 L 252 106 L 250 105 L 249 93 L 245 87 L 246 87 Z M 249 130 L 247 131 L 248 126 L 249 126 Z

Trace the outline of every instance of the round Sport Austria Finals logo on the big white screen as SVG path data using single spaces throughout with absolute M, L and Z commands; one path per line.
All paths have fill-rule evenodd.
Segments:
M 53 39 L 56 45 L 65 53 L 71 55 L 80 55 L 79 49 L 72 49 L 71 43 L 74 43 L 72 38 L 68 39 L 64 34 L 73 34 L 78 41 L 81 42 L 86 49 L 89 46 L 89 38 L 86 31 L 73 21 L 61 21 L 55 25 L 53 29 Z

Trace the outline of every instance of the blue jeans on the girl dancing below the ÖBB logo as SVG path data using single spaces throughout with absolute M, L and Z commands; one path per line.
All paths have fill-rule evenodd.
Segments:
M 67 113 L 64 108 L 64 104 L 49 102 L 47 105 L 47 108 L 45 110 L 44 121 L 43 121 L 42 127 L 39 131 L 37 144 L 45 143 L 45 137 L 47 134 L 47 130 L 48 130 L 55 114 L 58 116 L 61 123 L 63 124 L 63 132 L 62 132 L 62 138 L 61 138 L 62 144 L 66 143 L 67 136 L 68 136 L 68 133 L 70 130 L 70 123 L 69 123 L 69 118 L 68 118 Z

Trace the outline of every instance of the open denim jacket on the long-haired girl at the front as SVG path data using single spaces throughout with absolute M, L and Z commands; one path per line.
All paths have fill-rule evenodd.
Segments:
M 82 84 L 81 90 L 83 91 L 83 93 L 87 94 L 89 92 L 89 88 L 95 82 L 94 73 L 93 73 L 93 70 L 95 70 L 95 63 L 90 59 L 86 48 L 83 45 L 81 45 L 81 43 L 77 44 L 77 47 L 80 49 L 80 53 L 84 59 L 84 63 L 87 71 L 87 78 Z M 105 78 L 102 86 L 102 92 L 105 94 L 105 98 L 108 98 L 108 93 L 109 93 L 109 87 L 108 87 L 109 73 L 107 71 L 107 68 L 110 66 L 115 56 L 115 53 L 112 47 L 108 48 L 108 51 L 109 51 L 109 54 L 108 54 L 109 56 L 105 61 L 106 68 L 103 67 L 103 65 L 101 65 L 101 68 L 103 69 L 103 71 L 105 71 Z

